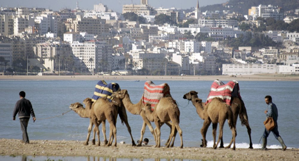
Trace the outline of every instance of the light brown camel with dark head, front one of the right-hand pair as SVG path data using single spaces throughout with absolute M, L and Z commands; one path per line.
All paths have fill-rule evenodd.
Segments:
M 199 115 L 200 118 L 204 120 L 202 129 L 200 130 L 202 134 L 202 142 L 203 147 L 207 147 L 207 141 L 206 141 L 206 134 L 208 131 L 208 128 L 210 124 L 213 124 L 213 149 L 216 149 L 219 141 L 222 139 L 223 135 L 223 126 L 225 123 L 225 120 L 228 120 L 228 125 L 231 129 L 234 146 L 233 150 L 236 150 L 236 125 L 234 124 L 234 115 L 231 110 L 231 107 L 222 101 L 220 98 L 214 98 L 211 102 L 209 102 L 206 106 L 205 103 L 202 102 L 201 99 L 198 98 L 196 91 L 190 91 L 189 93 L 186 93 L 183 97 L 183 99 L 191 100 L 193 105 L 196 108 L 196 112 Z M 217 124 L 219 123 L 219 138 L 217 143 L 216 142 L 216 130 L 217 130 Z

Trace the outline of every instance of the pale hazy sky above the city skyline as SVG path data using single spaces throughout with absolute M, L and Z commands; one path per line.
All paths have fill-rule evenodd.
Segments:
M 83 10 L 93 10 L 94 4 L 103 3 L 115 12 L 122 12 L 124 4 L 140 4 L 140 0 L 77 0 L 79 7 Z M 0 0 L 0 7 L 40 7 L 59 11 L 62 8 L 74 9 L 76 0 Z M 199 7 L 221 4 L 228 0 L 199 0 Z M 180 9 L 189 9 L 196 7 L 197 0 L 148 0 L 152 7 L 176 7 Z

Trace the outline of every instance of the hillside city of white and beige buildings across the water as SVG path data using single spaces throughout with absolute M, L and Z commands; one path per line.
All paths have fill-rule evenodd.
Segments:
M 245 14 L 231 2 L 242 4 Z M 269 1 L 270 2 L 270 1 Z M 0 71 L 29 75 L 299 74 L 299 9 L 257 1 L 225 10 L 0 8 Z M 292 1 L 293 2 L 293 1 Z M 294 2 L 295 3 L 295 2 Z M 247 4 L 252 4 L 248 6 Z M 298 6 L 297 6 L 298 7 Z

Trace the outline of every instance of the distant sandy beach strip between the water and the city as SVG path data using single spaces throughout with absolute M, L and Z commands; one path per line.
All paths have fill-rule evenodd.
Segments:
M 92 75 L 73 75 L 73 76 L 0 76 L 0 80 L 131 80 L 131 81 L 299 81 L 299 75 L 284 74 L 258 74 L 258 75 L 238 75 L 231 77 L 228 75 L 221 76 L 92 76 Z

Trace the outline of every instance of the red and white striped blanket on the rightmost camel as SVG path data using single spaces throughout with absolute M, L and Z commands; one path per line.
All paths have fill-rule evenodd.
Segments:
M 212 101 L 212 99 L 215 97 L 222 99 L 226 104 L 230 106 L 232 97 L 239 97 L 240 99 L 242 99 L 240 96 L 238 82 L 233 80 L 228 82 L 227 84 L 224 84 L 220 80 L 216 79 L 211 85 L 211 90 L 205 104 Z

